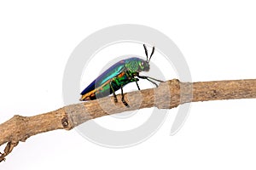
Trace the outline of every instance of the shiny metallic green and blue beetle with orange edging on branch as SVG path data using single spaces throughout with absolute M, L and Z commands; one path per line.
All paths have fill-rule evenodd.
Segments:
M 125 106 L 129 107 L 129 105 L 126 103 L 124 99 L 123 92 L 123 88 L 126 84 L 130 82 L 136 82 L 137 88 L 138 90 L 140 90 L 140 87 L 137 82 L 139 81 L 139 78 L 142 78 L 154 83 L 154 85 L 158 87 L 157 83 L 154 81 L 163 81 L 152 77 L 141 76 L 139 74 L 142 71 L 150 70 L 149 61 L 152 55 L 154 54 L 153 47 L 152 52 L 148 58 L 148 49 L 145 44 L 143 44 L 143 48 L 147 60 L 140 59 L 137 57 L 120 60 L 116 64 L 109 67 L 107 71 L 104 71 L 93 82 L 91 82 L 87 88 L 84 88 L 84 90 L 81 92 L 82 96 L 80 98 L 80 101 L 99 99 L 102 97 L 106 97 L 109 94 L 113 94 L 114 102 L 118 102 L 115 92 L 121 89 L 121 100 Z

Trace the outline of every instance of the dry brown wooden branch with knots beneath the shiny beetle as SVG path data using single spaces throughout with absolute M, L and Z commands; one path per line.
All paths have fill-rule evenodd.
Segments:
M 188 102 L 252 98 L 256 98 L 256 79 L 194 83 L 173 79 L 160 83 L 159 88 L 125 94 L 130 107 L 125 107 L 118 95 L 118 103 L 113 102 L 113 97 L 106 97 L 67 105 L 38 116 L 14 116 L 0 124 L 0 145 L 6 144 L 4 152 L 0 153 L 0 161 L 5 160 L 20 141 L 25 142 L 32 135 L 56 129 L 70 130 L 96 117 L 153 106 L 171 109 Z

